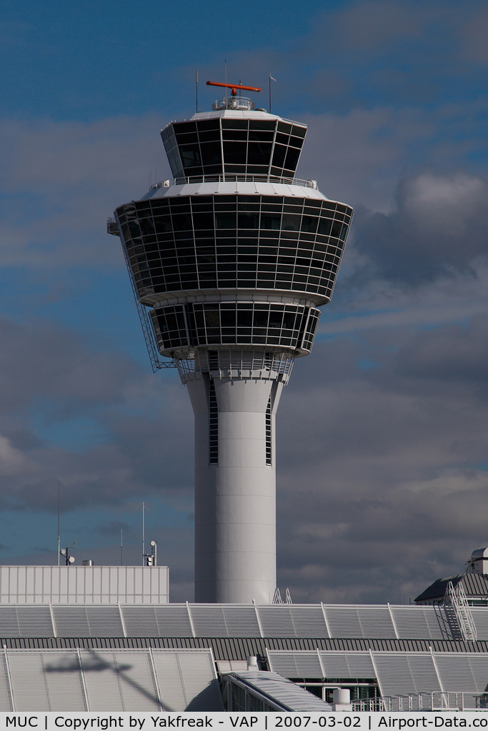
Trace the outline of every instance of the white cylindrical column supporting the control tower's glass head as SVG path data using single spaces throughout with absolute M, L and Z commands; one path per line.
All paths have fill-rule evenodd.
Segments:
M 187 382 L 195 412 L 195 601 L 268 604 L 276 588 L 274 421 L 283 382 L 273 371 L 212 375 Z

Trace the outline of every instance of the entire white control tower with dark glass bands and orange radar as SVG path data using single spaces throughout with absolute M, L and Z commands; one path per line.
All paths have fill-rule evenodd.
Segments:
M 146 339 L 195 412 L 195 601 L 263 604 L 276 588 L 275 414 L 353 211 L 294 177 L 307 126 L 255 109 L 238 96 L 249 87 L 215 86 L 213 111 L 162 129 L 173 181 L 117 208 L 109 230 Z

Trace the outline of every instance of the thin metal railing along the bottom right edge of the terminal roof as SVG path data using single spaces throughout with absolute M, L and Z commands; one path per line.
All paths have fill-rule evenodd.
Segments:
M 417 693 L 353 700 L 353 711 L 467 711 L 488 710 L 481 696 L 468 693 Z

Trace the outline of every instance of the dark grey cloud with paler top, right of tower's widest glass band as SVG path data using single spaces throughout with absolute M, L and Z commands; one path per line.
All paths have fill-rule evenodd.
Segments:
M 473 271 L 488 253 L 488 182 L 468 173 L 420 173 L 399 185 L 397 211 L 356 211 L 354 246 L 367 276 L 419 284 L 449 271 Z

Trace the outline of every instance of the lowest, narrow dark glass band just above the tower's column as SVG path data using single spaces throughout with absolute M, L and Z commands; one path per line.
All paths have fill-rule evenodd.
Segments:
M 150 311 L 159 351 L 205 345 L 266 345 L 308 353 L 320 310 L 301 305 L 216 302 Z

